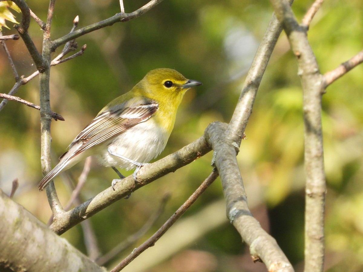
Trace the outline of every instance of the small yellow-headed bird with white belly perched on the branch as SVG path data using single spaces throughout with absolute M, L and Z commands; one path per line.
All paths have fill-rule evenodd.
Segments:
M 187 90 L 202 83 L 174 69 L 149 71 L 129 92 L 107 104 L 74 138 L 58 164 L 38 184 L 42 191 L 58 174 L 94 156 L 102 166 L 137 171 L 165 148 Z

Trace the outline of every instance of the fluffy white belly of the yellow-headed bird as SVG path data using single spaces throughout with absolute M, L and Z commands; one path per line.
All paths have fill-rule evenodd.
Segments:
M 153 122 L 149 119 L 147 122 L 139 123 L 116 136 L 107 147 L 103 145 L 101 152 L 99 152 L 102 155 L 96 157 L 99 164 L 103 166 L 115 166 L 130 170 L 135 168 L 135 165 L 111 155 L 107 148 L 111 146 L 115 153 L 131 160 L 149 162 L 164 150 L 169 136 L 170 133 L 163 129 L 155 129 Z

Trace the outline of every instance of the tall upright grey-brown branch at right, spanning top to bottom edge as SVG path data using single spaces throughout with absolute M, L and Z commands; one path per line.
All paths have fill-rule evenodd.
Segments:
M 297 57 L 303 88 L 305 139 L 305 271 L 324 268 L 324 214 L 326 181 L 321 123 L 321 96 L 324 78 L 309 41 L 306 27 L 300 26 L 290 6 L 283 0 L 271 0 Z

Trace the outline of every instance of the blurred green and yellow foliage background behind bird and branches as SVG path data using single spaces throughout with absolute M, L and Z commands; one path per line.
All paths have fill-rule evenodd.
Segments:
M 147 1 L 125 0 L 132 12 Z M 313 1 L 296 1 L 301 18 Z M 33 0 L 30 9 L 45 21 L 48 1 Z M 118 1 L 56 3 L 52 39 L 67 34 L 79 15 L 79 28 L 119 12 Z M 15 13 L 15 12 L 13 12 Z M 20 15 L 15 13 L 18 21 Z M 81 57 L 52 67 L 50 103 L 65 121 L 52 121 L 53 165 L 69 143 L 101 108 L 129 91 L 151 69 L 168 67 L 203 82 L 184 96 L 174 131 L 160 157 L 177 151 L 203 134 L 212 121 L 229 122 L 246 72 L 272 15 L 269 1 L 165 0 L 143 16 L 97 30 L 76 40 Z M 8 23 L 12 26 L 12 23 Z M 3 28 L 3 34 L 15 34 Z M 37 48 L 42 31 L 31 21 Z M 315 16 L 309 40 L 322 73 L 346 61 L 363 47 L 363 2 L 326 1 Z M 36 69 L 21 40 L 6 45 L 20 75 Z M 59 48 L 54 54 L 60 53 Z M 363 66 L 327 88 L 323 96 L 326 197 L 326 270 L 363 270 Z M 0 92 L 15 83 L 0 49 Z M 39 103 L 38 79 L 16 94 Z M 19 179 L 15 201 L 47 222 L 51 211 L 36 185 L 40 168 L 39 111 L 10 101 L 0 112 L 0 187 L 5 193 Z M 304 171 L 302 91 L 297 62 L 285 33 L 274 50 L 237 156 L 253 215 L 285 252 L 296 271 L 303 268 Z M 208 176 L 211 153 L 142 187 L 90 218 L 101 255 L 134 234 L 159 210 L 155 224 L 134 244 L 105 264 L 112 268 L 152 235 Z M 160 158 L 159 157 L 159 158 Z M 70 196 L 69 177 L 77 181 L 79 163 L 56 178 L 62 203 Z M 126 173 L 129 174 L 129 173 Z M 80 198 L 85 201 L 110 186 L 115 173 L 94 161 Z M 86 253 L 82 226 L 62 235 Z M 220 180 L 196 201 L 154 247 L 125 271 L 266 271 L 254 264 L 248 248 L 225 215 Z

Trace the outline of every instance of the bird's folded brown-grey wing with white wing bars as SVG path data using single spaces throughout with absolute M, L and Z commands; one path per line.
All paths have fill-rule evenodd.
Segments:
M 73 154 L 69 154 L 70 156 L 68 159 L 77 156 L 96 144 L 113 138 L 138 123 L 148 120 L 158 107 L 158 103 L 150 100 L 148 102 L 133 103 L 127 107 L 101 112 L 91 121 L 91 123 L 86 125 L 70 144 L 70 148 L 72 148 L 74 144 L 81 143 Z M 64 157 L 66 153 L 64 153 L 60 159 Z

